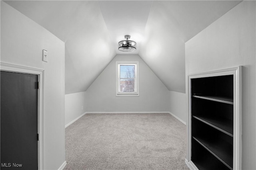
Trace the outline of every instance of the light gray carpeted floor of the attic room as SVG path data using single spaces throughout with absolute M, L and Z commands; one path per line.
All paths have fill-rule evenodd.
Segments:
M 66 128 L 64 170 L 189 170 L 185 133 L 168 113 L 86 114 Z

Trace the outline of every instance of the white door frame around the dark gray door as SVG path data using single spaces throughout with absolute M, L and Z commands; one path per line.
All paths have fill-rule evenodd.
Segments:
M 0 71 L 38 75 L 38 170 L 44 170 L 44 69 L 0 62 Z

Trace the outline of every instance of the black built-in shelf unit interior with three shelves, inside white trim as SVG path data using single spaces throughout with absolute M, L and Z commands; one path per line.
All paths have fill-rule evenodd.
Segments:
M 233 169 L 234 75 L 191 79 L 191 160 L 202 170 Z

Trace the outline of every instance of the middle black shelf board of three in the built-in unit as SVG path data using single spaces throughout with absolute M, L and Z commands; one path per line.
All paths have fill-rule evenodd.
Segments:
M 233 122 L 228 119 L 218 119 L 218 117 L 205 117 L 194 115 L 194 118 L 218 129 L 219 131 L 233 137 Z

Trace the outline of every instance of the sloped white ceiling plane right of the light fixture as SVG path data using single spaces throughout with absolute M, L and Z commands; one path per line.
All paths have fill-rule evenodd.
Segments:
M 185 93 L 185 42 L 239 2 L 154 1 L 138 54 L 169 90 Z

